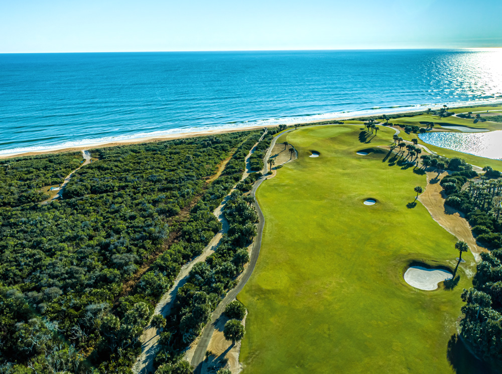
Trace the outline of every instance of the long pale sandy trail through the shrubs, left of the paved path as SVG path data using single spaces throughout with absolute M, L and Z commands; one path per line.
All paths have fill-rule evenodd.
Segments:
M 263 137 L 267 134 L 267 131 L 264 132 L 262 137 L 260 138 L 260 141 L 263 139 Z M 259 142 L 260 142 L 259 141 Z M 242 178 L 240 180 L 243 180 L 247 175 L 252 172 L 250 170 L 250 162 L 249 162 L 249 157 L 255 152 L 256 148 L 258 146 L 258 143 L 255 144 L 255 146 L 249 151 L 245 158 L 246 162 L 246 170 L 242 174 Z M 230 159 L 228 159 L 230 160 Z M 228 161 L 225 162 L 225 165 Z M 220 168 L 221 169 L 221 168 Z M 219 170 L 219 174 L 223 169 Z M 176 277 L 176 280 L 173 284 L 173 286 L 167 291 L 161 298 L 161 300 L 157 303 L 154 314 L 161 314 L 164 317 L 167 317 L 171 313 L 171 309 L 173 307 L 174 301 L 176 300 L 176 294 L 178 293 L 178 289 L 182 287 L 187 281 L 188 281 L 188 276 L 190 274 L 190 270 L 192 270 L 193 266 L 195 264 L 198 264 L 202 261 L 205 261 L 207 257 L 212 255 L 216 248 L 219 245 L 219 242 L 223 236 L 224 233 L 228 231 L 229 225 L 228 221 L 225 219 L 223 215 L 223 210 L 224 207 L 230 198 L 230 194 L 232 191 L 235 189 L 232 188 L 230 192 L 223 198 L 221 204 L 213 211 L 213 214 L 216 216 L 218 221 L 221 222 L 221 230 L 214 235 L 214 237 L 211 239 L 209 244 L 204 248 L 202 251 L 202 254 L 193 259 L 191 262 L 188 264 L 185 264 L 182 268 L 178 276 Z M 141 355 L 137 358 L 135 364 L 133 365 L 133 372 L 137 374 L 147 374 L 153 372 L 153 361 L 155 358 L 155 354 L 158 349 L 157 342 L 160 339 L 160 335 L 158 330 L 153 327 L 152 325 L 148 325 L 145 330 L 143 331 L 143 334 L 140 338 L 142 342 L 142 347 L 141 347 Z M 204 350 L 205 354 L 205 350 Z

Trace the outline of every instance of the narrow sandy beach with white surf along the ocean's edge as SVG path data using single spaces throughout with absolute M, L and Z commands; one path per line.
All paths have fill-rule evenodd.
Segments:
M 465 106 L 462 103 L 462 105 L 460 105 L 460 106 L 450 106 L 450 108 L 457 108 L 457 109 L 458 108 L 473 108 L 476 106 L 490 106 L 490 105 L 500 105 L 500 104 L 502 104 L 502 101 L 486 103 L 486 104 L 480 103 L 475 106 L 472 106 L 472 105 Z M 423 106 L 424 107 L 427 106 L 432 109 L 439 109 L 442 107 L 442 105 L 423 105 Z M 414 107 L 417 110 L 411 110 L 411 107 Z M 21 152 L 0 154 L 0 159 L 10 159 L 10 158 L 14 158 L 14 157 L 25 157 L 25 156 L 38 156 L 38 155 L 63 153 L 63 152 L 80 152 L 80 151 L 85 151 L 85 150 L 95 149 L 95 148 L 107 148 L 107 147 L 117 147 L 117 146 L 125 146 L 125 145 L 132 145 L 132 144 L 163 142 L 163 141 L 168 141 L 168 140 L 203 137 L 203 136 L 208 136 L 208 135 L 227 134 L 227 133 L 234 133 L 234 132 L 239 132 L 239 131 L 252 131 L 252 130 L 259 130 L 259 129 L 263 129 L 263 128 L 274 128 L 274 127 L 279 126 L 279 124 L 286 124 L 289 127 L 289 126 L 294 126 L 295 124 L 319 123 L 319 122 L 327 122 L 327 121 L 334 121 L 334 120 L 343 121 L 343 120 L 350 120 L 350 119 L 359 118 L 359 117 L 372 117 L 372 116 L 380 116 L 383 114 L 389 114 L 389 115 L 406 114 L 406 113 L 413 113 L 416 111 L 422 111 L 422 110 L 420 110 L 420 106 L 410 105 L 410 107 L 408 107 L 408 109 L 405 109 L 405 110 L 361 112 L 361 113 L 358 113 L 357 115 L 350 114 L 348 116 L 330 117 L 330 118 L 307 120 L 307 121 L 303 120 L 303 121 L 298 121 L 298 122 L 287 122 L 287 123 L 279 123 L 278 122 L 278 123 L 263 124 L 262 126 L 256 126 L 254 124 L 252 126 L 241 126 L 241 127 L 236 127 L 236 128 L 224 128 L 224 129 L 215 128 L 214 130 L 204 130 L 204 131 L 195 131 L 195 132 L 186 132 L 186 133 L 174 133 L 174 134 L 169 134 L 169 135 L 150 136 L 150 137 L 138 137 L 138 138 L 131 138 L 131 139 L 107 141 L 107 142 L 101 142 L 101 143 L 95 142 L 95 143 L 89 143 L 89 144 L 81 145 L 81 146 L 69 146 L 69 147 L 57 147 L 56 146 L 54 148 L 48 148 L 48 149 L 39 150 L 39 151 L 26 151 L 26 152 L 21 151 Z

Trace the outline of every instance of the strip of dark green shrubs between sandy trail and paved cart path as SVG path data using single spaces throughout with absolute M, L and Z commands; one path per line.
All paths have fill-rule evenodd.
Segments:
M 168 331 L 161 333 L 156 365 L 176 362 L 179 352 L 200 334 L 211 312 L 235 285 L 236 277 L 249 261 L 246 247 L 256 235 L 258 214 L 252 201 L 238 190 L 231 193 L 224 209 L 230 228 L 215 253 L 194 265 L 188 281 L 178 290 Z

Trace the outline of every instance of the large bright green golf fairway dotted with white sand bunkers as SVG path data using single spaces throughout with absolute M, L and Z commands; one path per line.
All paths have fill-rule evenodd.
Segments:
M 299 158 L 257 191 L 265 229 L 239 295 L 248 309 L 244 374 L 453 372 L 447 343 L 473 257 L 451 291 L 404 282 L 413 260 L 454 268 L 456 238 L 421 203 L 407 207 L 425 175 L 383 162 L 384 150 L 355 154 L 389 145 L 394 131 L 382 128 L 366 143 L 360 129 L 306 127 L 278 140 Z

